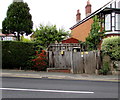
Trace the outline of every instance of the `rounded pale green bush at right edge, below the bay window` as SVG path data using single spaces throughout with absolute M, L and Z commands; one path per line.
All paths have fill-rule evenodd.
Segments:
M 112 60 L 120 60 L 120 36 L 105 38 L 102 43 L 102 51 Z

